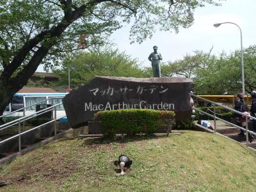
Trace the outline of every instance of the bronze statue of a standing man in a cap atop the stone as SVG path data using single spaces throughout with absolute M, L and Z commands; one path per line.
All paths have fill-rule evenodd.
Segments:
M 152 63 L 154 77 L 161 77 L 160 60 L 163 60 L 163 58 L 161 53 L 157 52 L 157 48 L 158 47 L 156 45 L 153 47 L 154 52 L 148 56 L 148 60 L 150 60 Z

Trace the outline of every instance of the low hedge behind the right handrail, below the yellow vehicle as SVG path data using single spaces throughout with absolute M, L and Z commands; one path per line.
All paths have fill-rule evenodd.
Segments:
M 203 107 L 203 108 L 197 108 L 197 109 L 200 109 L 201 111 L 205 111 L 206 113 L 213 115 L 213 113 L 211 112 L 214 110 L 213 107 Z M 207 111 L 207 109 L 210 109 L 211 111 Z M 216 110 L 216 116 L 224 120 L 230 121 L 231 118 L 233 117 L 233 113 L 231 111 L 228 111 L 228 109 L 215 107 L 215 110 Z M 212 120 L 212 118 L 210 116 L 199 113 L 199 111 L 195 111 L 195 120 Z

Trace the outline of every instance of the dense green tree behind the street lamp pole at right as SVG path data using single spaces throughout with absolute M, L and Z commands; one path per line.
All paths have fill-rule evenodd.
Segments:
M 244 49 L 244 83 L 246 92 L 256 88 L 256 45 Z M 197 94 L 236 94 L 242 90 L 241 52 L 223 52 L 207 70 L 200 70 L 195 78 Z

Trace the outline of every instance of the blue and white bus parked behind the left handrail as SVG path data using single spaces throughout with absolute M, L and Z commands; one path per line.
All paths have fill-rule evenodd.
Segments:
M 45 101 L 40 104 L 51 104 L 51 105 L 60 104 L 62 102 L 62 98 L 65 97 L 65 95 L 67 94 L 68 93 L 16 93 L 13 96 L 13 99 L 11 100 L 10 104 L 4 110 L 3 115 L 7 115 L 8 113 L 11 113 L 12 111 L 16 111 L 18 109 L 20 109 L 20 111 L 7 115 L 6 117 L 24 116 L 24 113 L 25 115 L 31 115 L 36 111 L 36 105 L 34 106 L 31 106 L 31 105 L 41 102 L 43 100 Z M 52 97 L 58 97 L 58 98 L 51 99 Z M 31 107 L 26 108 L 27 106 L 31 106 Z M 25 111 L 22 108 L 26 108 Z M 60 106 L 57 106 L 56 109 L 57 109 L 56 110 L 57 118 L 60 118 L 61 116 L 66 115 L 62 104 Z

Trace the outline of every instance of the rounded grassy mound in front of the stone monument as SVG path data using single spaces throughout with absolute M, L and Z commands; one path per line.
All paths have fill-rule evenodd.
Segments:
M 0 171 L 3 191 L 254 191 L 256 155 L 216 134 L 59 140 Z M 131 157 L 131 170 L 111 163 Z

